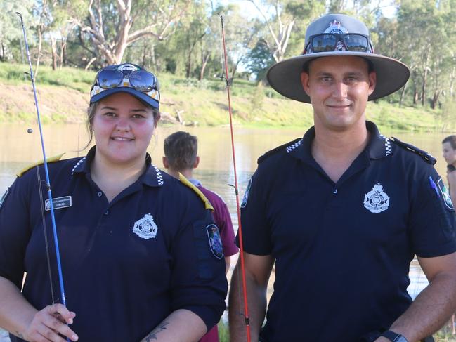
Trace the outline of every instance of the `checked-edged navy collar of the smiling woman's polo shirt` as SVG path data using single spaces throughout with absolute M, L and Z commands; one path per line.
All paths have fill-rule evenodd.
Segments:
M 96 146 L 93 146 L 89 152 L 87 153 L 86 157 L 83 157 L 74 164 L 71 174 L 74 173 L 90 173 L 90 165 L 95 157 L 95 150 Z M 162 186 L 164 184 L 163 174 L 157 166 L 152 165 L 152 157 L 150 154 L 146 153 L 145 155 L 145 171 L 139 177 L 139 180 L 143 182 L 145 185 L 149 185 L 152 187 Z

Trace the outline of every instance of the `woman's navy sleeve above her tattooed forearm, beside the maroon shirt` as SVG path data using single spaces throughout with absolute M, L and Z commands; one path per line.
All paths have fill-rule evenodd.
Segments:
M 225 310 L 228 283 L 223 254 L 218 256 L 211 249 L 208 226 L 214 222 L 210 211 L 205 210 L 204 217 L 181 229 L 174 239 L 171 310 L 192 311 L 209 330 Z

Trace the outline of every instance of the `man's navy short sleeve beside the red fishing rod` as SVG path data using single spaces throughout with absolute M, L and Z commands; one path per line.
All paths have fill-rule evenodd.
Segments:
M 266 216 L 266 183 L 257 170 L 249 180 L 241 205 L 242 242 L 249 254 L 269 255 L 272 252 L 271 229 Z M 239 246 L 239 232 L 236 237 Z

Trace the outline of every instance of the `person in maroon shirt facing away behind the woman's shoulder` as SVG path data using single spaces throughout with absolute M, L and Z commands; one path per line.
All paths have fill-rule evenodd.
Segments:
M 238 249 L 235 245 L 233 223 L 231 223 L 230 212 L 223 199 L 215 192 L 203 188 L 200 181 L 193 178 L 193 169 L 200 164 L 200 157 L 197 156 L 198 140 L 196 136 L 188 132 L 178 131 L 172 133 L 164 140 L 163 165 L 171 176 L 179 178 L 181 173 L 190 180 L 193 185 L 209 199 L 214 206 L 214 222 L 219 227 L 221 242 L 223 244 L 223 255 L 225 256 L 226 272 L 230 268 L 230 256 L 236 254 Z M 207 332 L 200 342 L 218 342 L 219 334 L 217 326 Z

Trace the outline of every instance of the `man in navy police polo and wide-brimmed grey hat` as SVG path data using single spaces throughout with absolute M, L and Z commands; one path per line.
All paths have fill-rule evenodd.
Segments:
M 259 158 L 241 205 L 252 341 L 419 341 L 456 310 L 455 211 L 435 159 L 365 117 L 408 67 L 374 54 L 367 27 L 347 15 L 315 20 L 305 44 L 268 81 L 311 103 L 314 126 Z M 412 303 L 415 254 L 430 284 Z M 240 277 L 231 341 L 245 341 Z

